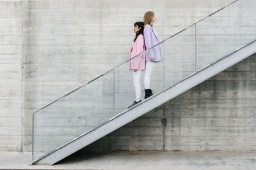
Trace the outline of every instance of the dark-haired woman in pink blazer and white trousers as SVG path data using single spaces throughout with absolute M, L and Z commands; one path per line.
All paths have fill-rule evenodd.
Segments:
M 134 106 L 141 102 L 140 76 L 141 76 L 141 71 L 145 70 L 145 66 L 146 66 L 145 53 L 135 57 L 139 53 L 145 51 L 144 37 L 143 37 L 144 23 L 135 22 L 133 31 L 136 32 L 136 35 L 133 40 L 133 44 L 130 52 L 131 60 L 130 60 L 129 70 L 132 71 L 132 75 L 133 75 L 133 84 L 135 87 L 136 99 L 131 104 L 131 106 Z M 134 59 L 132 59 L 133 57 Z M 129 106 L 128 108 L 131 108 L 131 106 Z

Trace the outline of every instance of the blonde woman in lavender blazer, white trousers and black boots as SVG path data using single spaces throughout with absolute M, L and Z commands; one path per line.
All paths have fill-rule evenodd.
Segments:
M 156 17 L 153 11 L 147 11 L 143 18 L 144 22 L 144 39 L 145 39 L 145 46 L 146 50 L 148 48 L 151 48 L 152 46 L 159 43 L 159 38 L 157 37 L 156 31 L 154 31 L 153 22 L 156 22 Z M 145 99 L 152 96 L 152 90 L 150 89 L 150 76 L 152 74 L 152 70 L 154 67 L 154 64 L 156 62 L 162 61 L 161 56 L 161 47 L 158 45 L 152 49 L 150 49 L 148 52 L 145 53 L 146 57 L 146 71 L 144 76 L 144 87 L 145 87 Z

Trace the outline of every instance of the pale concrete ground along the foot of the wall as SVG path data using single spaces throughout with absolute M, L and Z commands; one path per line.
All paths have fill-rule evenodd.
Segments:
M 256 152 L 76 153 L 54 166 L 31 166 L 31 153 L 0 152 L 0 169 L 256 169 Z

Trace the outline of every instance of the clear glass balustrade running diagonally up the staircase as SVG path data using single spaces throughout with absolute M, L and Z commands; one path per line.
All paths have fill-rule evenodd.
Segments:
M 254 1 L 234 1 L 143 52 L 161 46 L 163 62 L 155 64 L 151 78 L 154 94 L 255 39 L 253 7 Z M 35 111 L 33 160 L 104 124 L 126 110 L 133 100 L 127 60 Z

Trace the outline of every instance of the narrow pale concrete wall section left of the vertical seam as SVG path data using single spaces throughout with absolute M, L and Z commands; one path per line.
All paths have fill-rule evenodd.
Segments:
M 22 148 L 20 1 L 0 1 L 0 150 Z

